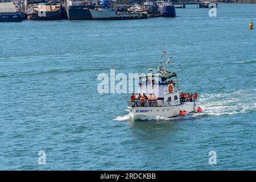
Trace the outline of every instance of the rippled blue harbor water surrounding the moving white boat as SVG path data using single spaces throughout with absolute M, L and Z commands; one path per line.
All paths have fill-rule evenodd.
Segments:
M 0 169 L 255 170 L 256 5 L 208 11 L 1 23 Z M 133 121 L 130 94 L 98 93 L 98 74 L 146 73 L 163 46 L 181 90 L 199 93 L 204 111 Z

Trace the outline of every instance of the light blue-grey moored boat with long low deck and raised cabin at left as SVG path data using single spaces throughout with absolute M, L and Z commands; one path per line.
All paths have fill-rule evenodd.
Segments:
M 122 6 L 122 8 L 121 8 Z M 93 19 L 96 20 L 119 20 L 119 19 L 143 19 L 147 18 L 147 12 L 127 10 L 129 6 L 119 5 L 117 2 L 101 1 L 94 10 L 90 9 Z M 121 11 L 118 9 L 122 9 Z

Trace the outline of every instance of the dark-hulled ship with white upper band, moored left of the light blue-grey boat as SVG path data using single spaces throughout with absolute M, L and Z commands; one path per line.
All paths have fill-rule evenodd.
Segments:
M 89 9 L 94 9 L 95 7 L 96 3 L 93 1 L 67 0 L 65 2 L 65 10 L 70 20 L 93 19 Z

